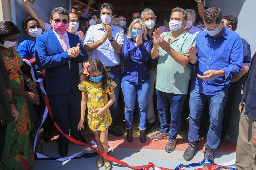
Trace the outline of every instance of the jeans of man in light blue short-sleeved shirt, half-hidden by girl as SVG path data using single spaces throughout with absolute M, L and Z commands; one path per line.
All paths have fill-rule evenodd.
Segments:
M 116 100 L 115 102 L 109 107 L 109 111 L 112 117 L 112 121 L 114 124 L 114 120 L 116 119 L 116 106 L 117 106 L 117 99 L 119 96 L 119 92 L 120 92 L 120 86 L 121 86 L 121 70 L 120 68 L 116 68 L 115 70 L 111 70 L 108 72 L 111 80 L 114 81 L 116 83 L 116 87 L 115 87 L 115 96 L 116 96 Z

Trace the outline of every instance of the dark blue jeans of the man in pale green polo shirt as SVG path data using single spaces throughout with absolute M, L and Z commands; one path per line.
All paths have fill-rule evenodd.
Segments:
M 161 131 L 166 132 L 170 128 L 168 135 L 175 139 L 180 129 L 181 111 L 186 94 L 174 94 L 161 92 L 156 89 L 157 110 L 160 116 Z M 171 121 L 169 109 L 171 111 Z

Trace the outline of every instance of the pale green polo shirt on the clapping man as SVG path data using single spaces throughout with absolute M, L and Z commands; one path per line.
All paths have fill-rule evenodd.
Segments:
M 172 32 L 164 32 L 167 41 Z M 179 54 L 187 56 L 191 45 L 196 45 L 194 37 L 184 30 L 179 37 L 170 40 L 170 46 Z M 183 67 L 177 63 L 166 51 L 159 47 L 159 59 L 156 72 L 156 89 L 174 94 L 187 94 L 191 66 Z

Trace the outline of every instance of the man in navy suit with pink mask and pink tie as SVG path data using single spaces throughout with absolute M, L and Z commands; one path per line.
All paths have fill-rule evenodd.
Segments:
M 63 133 L 86 143 L 77 129 L 80 120 L 81 91 L 78 90 L 78 63 L 87 60 L 78 35 L 68 33 L 68 11 L 53 9 L 50 23 L 53 29 L 36 38 L 36 64 L 45 69 L 46 92 L 54 121 Z M 68 155 L 68 139 L 59 133 L 57 139 L 61 157 Z

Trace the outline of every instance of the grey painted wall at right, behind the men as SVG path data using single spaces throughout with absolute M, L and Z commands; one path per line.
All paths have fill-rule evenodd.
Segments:
M 254 28 L 256 23 L 253 21 L 253 11 L 256 6 L 255 0 L 206 0 L 207 7 L 220 7 L 223 15 L 235 15 L 238 17 L 238 26 L 236 32 L 247 40 L 251 46 L 252 55 L 256 51 L 256 33 Z M 252 15 L 250 15 L 252 14 Z M 234 140 L 237 139 L 239 129 L 240 112 L 238 111 L 244 88 L 245 76 L 242 77 L 236 85 L 236 93 L 234 94 L 233 107 L 231 109 L 231 118 L 228 129 L 228 135 Z

